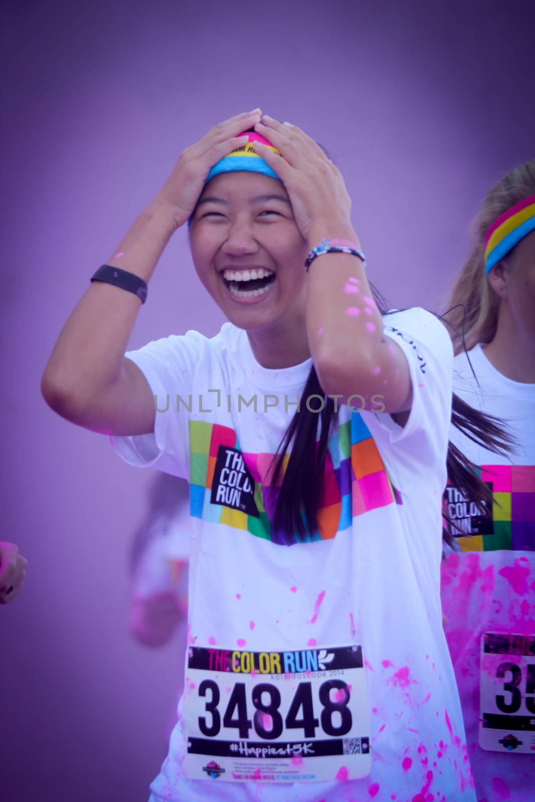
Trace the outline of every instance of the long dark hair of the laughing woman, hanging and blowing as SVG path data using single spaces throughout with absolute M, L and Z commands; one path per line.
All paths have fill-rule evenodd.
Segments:
M 391 314 L 379 291 L 371 284 L 370 289 L 383 317 Z M 436 317 L 451 326 L 443 315 L 436 314 Z M 456 335 L 462 340 L 462 333 L 456 332 Z M 337 417 L 334 401 L 323 392 L 314 366 L 303 390 L 305 399 L 310 395 L 319 395 L 324 399 L 322 412 L 310 412 L 305 407 L 299 414 L 296 413 L 274 456 L 276 481 L 283 470 L 286 452 L 290 443 L 292 444 L 274 515 L 274 528 L 286 533 L 288 543 L 293 542 L 294 536 L 303 541 L 307 533 L 318 533 L 318 509 L 323 493 L 327 443 Z M 320 435 L 316 442 L 320 422 Z M 488 448 L 489 451 L 505 454 L 513 450 L 513 438 L 498 419 L 474 409 L 455 393 L 452 394 L 452 423 L 474 443 Z M 306 470 L 303 470 L 303 466 L 306 466 Z M 477 475 L 476 466 L 451 441 L 448 443 L 447 470 L 448 480 L 468 501 L 474 502 L 482 514 L 485 509 L 492 509 L 492 491 Z M 442 539 L 451 548 L 455 541 L 451 530 L 456 525 L 445 511 L 443 517 L 444 524 L 448 526 L 443 525 Z

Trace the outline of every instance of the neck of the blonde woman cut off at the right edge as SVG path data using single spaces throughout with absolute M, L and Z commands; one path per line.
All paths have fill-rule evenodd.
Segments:
M 494 339 L 482 348 L 492 367 L 507 379 L 525 384 L 535 383 L 533 332 L 519 325 L 504 302 L 501 302 Z

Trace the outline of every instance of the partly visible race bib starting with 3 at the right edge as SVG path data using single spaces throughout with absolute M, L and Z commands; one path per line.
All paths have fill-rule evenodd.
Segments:
M 481 635 L 479 743 L 535 754 L 535 635 Z

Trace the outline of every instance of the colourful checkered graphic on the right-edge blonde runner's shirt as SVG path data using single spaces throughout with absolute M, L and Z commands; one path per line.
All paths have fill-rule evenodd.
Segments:
M 492 515 L 448 483 L 444 507 L 460 527 L 452 529 L 461 551 L 535 551 L 535 465 L 481 465 L 478 476 L 492 490 Z

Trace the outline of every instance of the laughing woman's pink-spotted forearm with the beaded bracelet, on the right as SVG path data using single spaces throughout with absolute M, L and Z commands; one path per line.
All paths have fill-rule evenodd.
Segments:
M 310 248 L 334 237 L 359 240 L 351 224 L 325 221 L 314 224 Z M 355 377 L 355 393 L 373 392 L 375 354 L 383 336 L 379 309 L 371 297 L 363 262 L 348 253 L 326 253 L 316 257 L 308 273 L 306 327 L 310 352 L 323 389 L 346 394 L 338 387 L 338 375 Z M 351 389 L 351 388 L 350 388 Z M 365 392 L 363 392 L 365 391 Z

